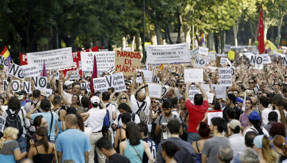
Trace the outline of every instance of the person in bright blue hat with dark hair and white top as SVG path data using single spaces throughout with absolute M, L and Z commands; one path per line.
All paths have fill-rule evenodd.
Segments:
M 249 119 L 250 128 L 245 129 L 243 137 L 245 137 L 245 134 L 249 131 L 255 131 L 256 133 L 258 133 L 258 135 L 265 134 L 269 137 L 268 131 L 265 128 L 261 127 L 261 117 L 257 112 L 252 111 L 247 117 Z

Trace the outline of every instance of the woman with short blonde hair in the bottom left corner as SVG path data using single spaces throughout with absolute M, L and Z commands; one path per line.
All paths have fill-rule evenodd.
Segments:
M 22 160 L 27 152 L 21 153 L 17 141 L 18 130 L 13 127 L 6 127 L 3 137 L 0 139 L 0 162 L 16 162 Z

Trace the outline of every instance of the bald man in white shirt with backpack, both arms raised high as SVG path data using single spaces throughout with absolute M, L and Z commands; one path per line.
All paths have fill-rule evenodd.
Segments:
M 142 76 L 145 93 L 143 91 L 139 91 L 137 93 L 137 97 L 135 97 L 134 88 L 135 88 L 135 80 L 137 79 L 137 73 L 140 73 Z M 133 76 L 133 83 L 131 83 L 131 110 L 136 114 L 139 114 L 139 111 L 144 111 L 146 116 L 148 116 L 150 108 L 149 96 L 150 94 L 148 93 L 148 85 L 146 84 L 144 73 L 135 71 Z

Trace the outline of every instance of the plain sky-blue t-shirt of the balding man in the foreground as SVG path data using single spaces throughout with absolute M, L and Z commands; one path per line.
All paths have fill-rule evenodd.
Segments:
M 61 133 L 57 138 L 56 147 L 63 153 L 62 162 L 85 162 L 84 152 L 92 149 L 88 135 L 77 129 L 68 129 Z

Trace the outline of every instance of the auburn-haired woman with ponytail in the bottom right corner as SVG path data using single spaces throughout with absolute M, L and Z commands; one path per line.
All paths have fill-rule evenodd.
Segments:
M 279 163 L 287 158 L 287 144 L 286 140 L 281 135 L 276 135 L 272 140 L 273 146 L 277 154 L 279 155 Z

